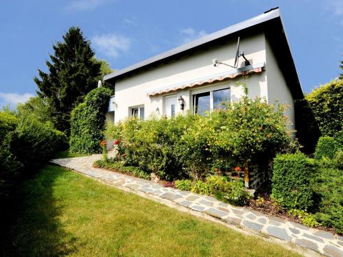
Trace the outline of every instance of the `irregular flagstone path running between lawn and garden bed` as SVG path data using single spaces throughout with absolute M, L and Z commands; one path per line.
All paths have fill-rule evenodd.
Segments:
M 161 184 L 156 184 L 149 180 L 142 180 L 104 169 L 96 169 L 92 166 L 93 162 L 98 158 L 100 158 L 100 155 L 55 159 L 51 160 L 51 162 L 62 167 L 74 169 L 107 184 L 130 188 L 133 191 L 170 200 L 180 206 L 198 212 L 204 212 L 206 215 L 210 215 L 239 228 L 255 232 L 255 234 L 273 236 L 283 241 L 294 243 L 300 247 L 314 250 L 325 256 L 343 256 L 342 236 L 307 228 L 304 225 L 292 221 L 285 221 L 278 217 L 268 217 L 255 210 L 230 206 L 213 197 L 197 195 L 188 191 L 179 191 L 174 188 L 166 188 Z

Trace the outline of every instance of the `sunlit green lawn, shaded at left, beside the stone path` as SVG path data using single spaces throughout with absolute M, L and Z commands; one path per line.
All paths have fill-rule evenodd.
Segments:
M 4 256 L 299 256 L 48 165 L 23 186 Z

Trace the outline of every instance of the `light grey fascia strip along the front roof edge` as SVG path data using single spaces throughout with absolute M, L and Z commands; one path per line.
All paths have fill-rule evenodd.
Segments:
M 157 56 L 153 56 L 152 58 L 148 58 L 147 60 L 143 60 L 142 62 L 138 62 L 137 64 L 133 64 L 133 65 L 128 66 L 128 67 L 121 69 L 119 71 L 115 71 L 114 73 L 110 73 L 110 74 L 104 76 L 104 81 L 110 82 L 110 80 L 121 77 L 124 74 L 127 75 L 127 73 L 131 73 L 132 71 L 136 71 L 137 69 L 141 69 L 141 68 L 148 66 L 150 64 L 155 64 L 156 62 L 159 62 L 161 60 L 171 58 L 173 56 L 179 55 L 180 53 L 184 53 L 185 51 L 188 51 L 190 49 L 200 47 L 201 45 L 205 45 L 206 43 L 213 42 L 214 40 L 223 38 L 223 37 L 228 36 L 230 34 L 234 34 L 235 32 L 239 32 L 239 31 L 247 29 L 249 27 L 253 27 L 255 25 L 265 23 L 266 21 L 270 21 L 270 20 L 276 19 L 278 17 L 280 17 L 279 8 L 274 9 L 274 10 L 270 10 L 269 12 L 265 12 L 263 14 L 255 16 L 255 17 L 248 19 L 246 21 L 242 21 L 242 22 L 237 23 L 235 25 L 232 25 L 230 27 L 226 27 L 225 29 L 222 29 L 220 31 L 206 35 L 206 36 L 199 38 L 197 40 L 193 40 L 191 42 L 188 42 L 187 44 L 181 45 L 180 47 L 176 47 L 176 48 L 171 49 L 169 51 L 165 51 L 164 53 L 158 54 Z

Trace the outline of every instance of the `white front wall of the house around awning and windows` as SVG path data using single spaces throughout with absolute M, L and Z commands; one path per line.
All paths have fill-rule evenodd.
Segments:
M 223 45 L 216 45 L 206 51 L 198 51 L 191 56 L 185 56 L 179 60 L 170 61 L 167 64 L 161 64 L 154 69 L 141 71 L 130 77 L 118 79 L 115 84 L 115 101 L 117 108 L 115 110 L 115 122 L 125 119 L 129 115 L 129 108 L 133 106 L 145 107 L 145 119 L 151 113 L 164 113 L 163 95 L 148 97 L 147 92 L 164 86 L 187 82 L 191 79 L 197 79 L 216 73 L 230 71 L 230 67 L 220 65 L 214 67 L 212 60 L 219 59 L 228 64 L 234 63 L 237 40 L 230 40 Z M 252 35 L 249 38 L 240 39 L 240 49 L 244 50 L 246 58 L 252 59 L 253 64 L 265 62 L 265 37 L 264 34 Z M 243 58 L 240 58 L 243 62 Z M 240 64 L 239 64 L 240 66 Z M 235 85 L 241 78 L 228 79 L 226 83 L 231 87 L 231 99 L 235 101 L 242 93 L 241 88 Z M 199 86 L 198 86 L 199 88 Z M 248 80 L 249 95 L 251 97 L 268 97 L 266 73 L 250 75 Z M 192 88 L 193 89 L 193 88 Z M 185 99 L 185 110 L 191 108 L 191 90 L 178 90 L 178 97 Z M 180 110 L 178 109 L 178 112 Z

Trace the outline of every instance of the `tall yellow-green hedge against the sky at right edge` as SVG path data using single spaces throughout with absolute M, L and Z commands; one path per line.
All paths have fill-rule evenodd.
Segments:
M 343 79 L 316 88 L 306 95 L 306 99 L 323 136 L 333 136 L 342 130 Z

